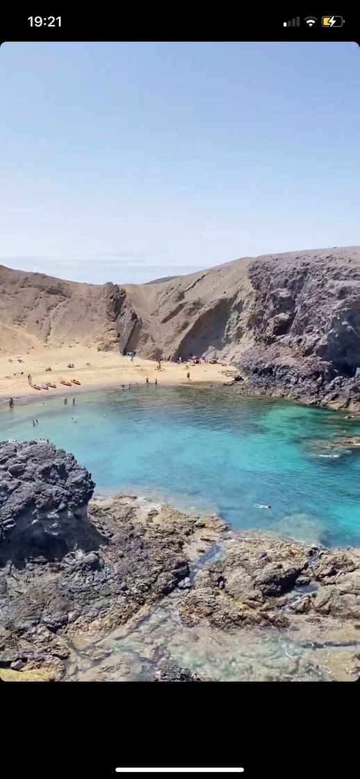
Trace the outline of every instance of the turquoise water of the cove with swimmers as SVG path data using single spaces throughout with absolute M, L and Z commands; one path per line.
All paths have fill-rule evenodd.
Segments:
M 356 432 L 360 422 L 344 414 L 226 387 L 79 394 L 75 407 L 55 398 L 0 417 L 0 439 L 50 439 L 74 453 L 101 492 L 154 495 L 220 513 L 234 527 L 324 545 L 360 545 L 360 450 L 329 456 L 316 441 Z

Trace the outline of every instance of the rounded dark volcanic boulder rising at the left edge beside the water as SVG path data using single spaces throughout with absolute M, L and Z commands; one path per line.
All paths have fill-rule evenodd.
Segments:
M 48 441 L 0 444 L 0 566 L 62 558 L 100 537 L 86 520 L 94 481 Z

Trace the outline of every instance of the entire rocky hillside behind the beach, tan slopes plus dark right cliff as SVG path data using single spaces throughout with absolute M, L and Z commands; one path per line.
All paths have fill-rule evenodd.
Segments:
M 103 287 L 0 269 L 2 323 L 145 358 L 238 366 L 250 392 L 356 404 L 360 249 L 244 258 L 162 283 Z M 335 383 L 334 383 L 335 382 Z

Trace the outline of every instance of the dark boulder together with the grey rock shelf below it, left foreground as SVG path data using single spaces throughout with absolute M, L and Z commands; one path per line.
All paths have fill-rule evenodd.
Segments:
M 48 442 L 3 444 L 0 460 L 0 667 L 55 657 L 60 678 L 61 636 L 118 626 L 188 587 L 200 539 L 209 548 L 224 530 L 167 507 L 149 516 L 134 499 L 88 506 L 90 474 Z

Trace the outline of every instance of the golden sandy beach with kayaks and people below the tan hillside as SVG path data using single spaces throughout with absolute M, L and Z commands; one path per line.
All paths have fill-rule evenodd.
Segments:
M 21 360 L 21 361 L 19 361 Z M 74 368 L 68 368 L 73 363 Z M 14 402 L 23 400 L 44 400 L 55 395 L 75 396 L 90 390 L 101 390 L 125 385 L 141 385 L 157 379 L 159 386 L 178 386 L 186 384 L 186 374 L 190 372 L 191 384 L 231 383 L 235 368 L 228 365 L 178 365 L 174 362 L 162 362 L 161 371 L 157 362 L 135 357 L 122 357 L 115 351 L 101 352 L 95 347 L 83 345 L 69 347 L 38 347 L 23 353 L 0 355 L 0 407 L 5 407 L 9 397 Z M 46 368 L 51 368 L 47 372 Z M 56 389 L 34 390 L 30 387 L 27 375 L 32 382 L 41 386 L 46 382 L 56 384 Z M 80 385 L 64 386 L 60 379 L 77 379 Z

